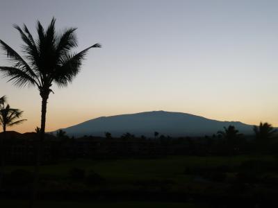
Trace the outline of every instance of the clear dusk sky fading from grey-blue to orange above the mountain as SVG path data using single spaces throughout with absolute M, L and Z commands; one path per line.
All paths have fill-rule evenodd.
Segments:
M 1 0 L 0 39 L 16 51 L 13 24 L 35 33 L 56 18 L 77 27 L 81 51 L 97 42 L 67 88 L 53 87 L 47 131 L 99 116 L 153 110 L 278 126 L 278 1 Z M 22 54 L 22 53 L 20 53 Z M 7 65 L 0 53 L 0 65 Z M 0 96 L 40 126 L 38 89 L 0 78 Z

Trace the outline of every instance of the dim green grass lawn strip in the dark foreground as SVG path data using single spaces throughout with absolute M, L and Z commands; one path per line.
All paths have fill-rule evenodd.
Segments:
M 75 159 L 55 165 L 41 166 L 40 173 L 55 177 L 67 177 L 71 168 L 83 168 L 85 171 L 95 171 L 106 180 L 125 181 L 146 179 L 186 179 L 183 171 L 187 166 L 219 166 L 236 165 L 257 156 L 242 155 L 235 157 L 195 157 L 174 156 L 161 159 L 115 159 L 93 160 Z M 261 160 L 272 160 L 272 156 L 260 157 Z M 6 171 L 18 168 L 33 170 L 33 166 L 7 166 Z

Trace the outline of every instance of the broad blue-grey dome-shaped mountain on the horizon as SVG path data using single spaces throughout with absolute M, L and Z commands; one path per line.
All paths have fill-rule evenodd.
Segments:
M 117 116 L 101 116 L 63 128 L 70 136 L 102 136 L 104 132 L 111 132 L 113 137 L 120 137 L 126 132 L 133 135 L 154 137 L 154 132 L 171 137 L 213 135 L 224 126 L 234 125 L 241 133 L 252 134 L 253 125 L 239 121 L 216 121 L 202 116 L 182 112 L 152 111 L 136 114 L 122 114 Z

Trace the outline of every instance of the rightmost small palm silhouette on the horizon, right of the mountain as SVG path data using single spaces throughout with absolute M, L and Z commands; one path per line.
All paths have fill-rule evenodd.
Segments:
M 257 141 L 267 141 L 276 132 L 270 123 L 260 123 L 259 126 L 254 125 L 253 130 Z

